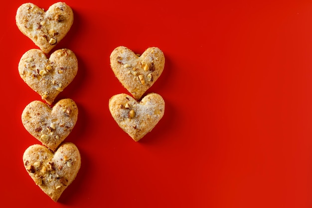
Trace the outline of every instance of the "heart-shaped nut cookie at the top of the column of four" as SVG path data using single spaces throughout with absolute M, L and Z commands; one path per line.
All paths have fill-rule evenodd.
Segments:
M 74 14 L 64 2 L 54 3 L 46 12 L 33 3 L 24 3 L 18 7 L 15 20 L 24 35 L 49 53 L 69 31 Z

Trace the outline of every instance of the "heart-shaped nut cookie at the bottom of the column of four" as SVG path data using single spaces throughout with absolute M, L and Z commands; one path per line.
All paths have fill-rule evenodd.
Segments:
M 23 163 L 35 184 L 56 202 L 76 178 L 81 157 L 73 143 L 62 144 L 54 154 L 35 144 L 25 150 Z

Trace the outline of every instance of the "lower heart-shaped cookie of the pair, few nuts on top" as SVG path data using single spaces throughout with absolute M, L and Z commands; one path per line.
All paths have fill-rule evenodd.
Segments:
M 117 124 L 136 142 L 152 131 L 164 113 L 164 100 L 149 93 L 140 102 L 127 94 L 109 100 L 109 109 Z

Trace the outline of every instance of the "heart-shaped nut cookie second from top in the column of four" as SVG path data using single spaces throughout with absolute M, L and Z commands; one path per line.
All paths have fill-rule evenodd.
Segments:
M 30 49 L 18 63 L 20 77 L 50 105 L 75 78 L 77 71 L 76 55 L 69 49 L 56 50 L 50 58 L 39 49 Z

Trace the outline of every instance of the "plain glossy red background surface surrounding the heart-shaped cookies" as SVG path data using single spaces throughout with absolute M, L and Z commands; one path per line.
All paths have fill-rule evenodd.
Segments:
M 1 207 L 312 207 L 311 0 L 65 1 L 74 23 L 53 50 L 74 51 L 79 69 L 57 100 L 78 105 L 65 141 L 82 165 L 58 203 L 22 163 L 39 142 L 20 116 L 40 100 L 17 70 L 37 48 L 15 24 L 24 2 L 0 12 Z M 111 96 L 128 93 L 110 68 L 120 45 L 165 55 L 149 89 L 164 98 L 165 114 L 140 142 L 108 109 Z

